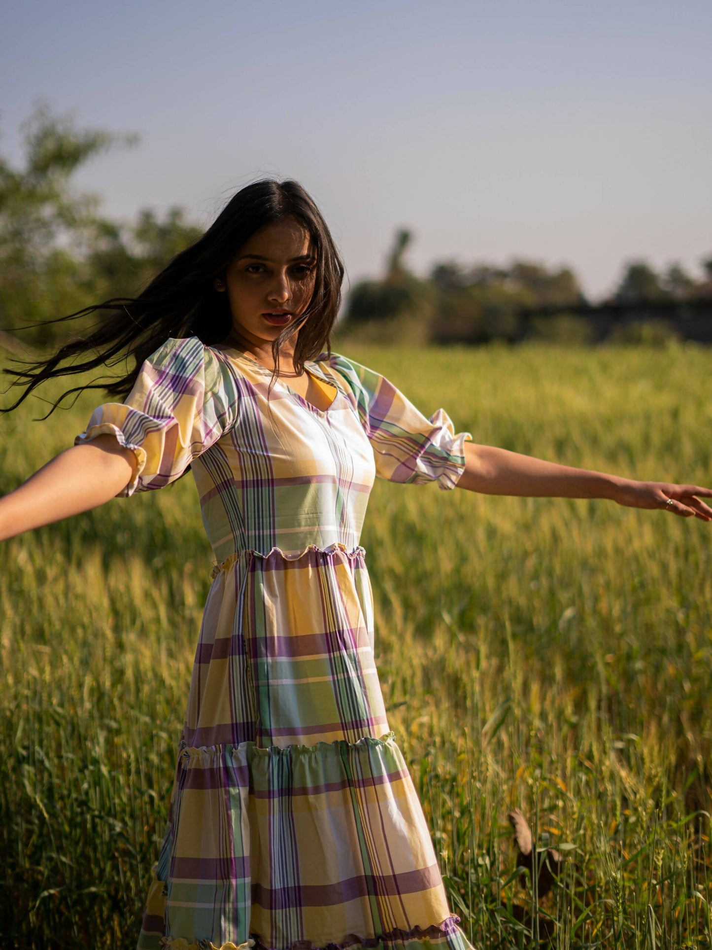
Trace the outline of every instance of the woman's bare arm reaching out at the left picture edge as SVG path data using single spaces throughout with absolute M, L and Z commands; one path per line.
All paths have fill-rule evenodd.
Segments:
M 128 485 L 136 455 L 114 435 L 67 448 L 0 498 L 0 541 L 110 501 Z

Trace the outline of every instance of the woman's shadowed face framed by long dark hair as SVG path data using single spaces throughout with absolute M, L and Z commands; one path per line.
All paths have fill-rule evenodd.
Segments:
M 230 300 L 235 339 L 255 347 L 272 344 L 309 306 L 315 266 L 309 233 L 293 218 L 269 224 L 246 241 L 225 280 L 215 282 Z

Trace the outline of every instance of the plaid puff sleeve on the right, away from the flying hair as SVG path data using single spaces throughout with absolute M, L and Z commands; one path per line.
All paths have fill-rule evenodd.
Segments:
M 457 485 L 470 432 L 456 434 L 444 409 L 427 419 L 388 379 L 345 356 L 332 353 L 328 363 L 350 390 L 379 478 L 413 485 L 437 482 L 442 489 Z

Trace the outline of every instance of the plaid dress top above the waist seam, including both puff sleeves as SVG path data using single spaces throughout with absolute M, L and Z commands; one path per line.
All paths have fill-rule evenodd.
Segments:
M 167 485 L 192 466 L 218 562 L 243 550 L 352 550 L 376 476 L 456 484 L 471 436 L 456 435 L 442 409 L 426 418 L 384 376 L 336 353 L 306 368 L 335 388 L 328 409 L 284 380 L 271 389 L 271 371 L 246 353 L 169 339 L 125 402 L 96 409 L 76 441 L 113 432 L 134 450 L 121 495 Z

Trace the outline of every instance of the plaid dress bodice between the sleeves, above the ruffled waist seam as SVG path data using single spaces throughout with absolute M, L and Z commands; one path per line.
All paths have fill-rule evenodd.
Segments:
M 240 374 L 234 425 L 192 466 L 216 560 L 240 550 L 355 548 L 376 466 L 343 384 L 328 409 L 315 409 L 282 380 L 268 391 L 271 373 L 252 358 L 224 355 Z

